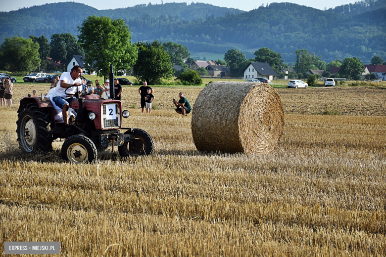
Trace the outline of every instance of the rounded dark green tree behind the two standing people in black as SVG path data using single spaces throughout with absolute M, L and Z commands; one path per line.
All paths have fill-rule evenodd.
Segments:
M 161 84 L 161 79 L 172 78 L 173 68 L 170 55 L 163 45 L 155 40 L 151 43 L 137 42 L 138 60 L 133 67 L 133 75 L 149 85 Z

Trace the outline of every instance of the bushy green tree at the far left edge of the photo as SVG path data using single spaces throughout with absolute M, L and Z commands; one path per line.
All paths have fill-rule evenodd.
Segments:
M 39 44 L 31 39 L 6 38 L 0 47 L 0 68 L 10 72 L 33 71 L 38 68 Z

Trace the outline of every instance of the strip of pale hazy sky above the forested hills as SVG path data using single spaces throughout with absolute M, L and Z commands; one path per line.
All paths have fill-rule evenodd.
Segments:
M 152 4 L 160 4 L 161 0 L 129 0 L 129 1 L 122 1 L 122 0 L 0 0 L 1 3 L 1 11 L 10 11 L 10 10 L 17 10 L 19 8 L 23 7 L 30 7 L 33 5 L 42 5 L 45 3 L 52 3 L 52 2 L 67 2 L 67 1 L 74 1 L 74 2 L 81 2 L 87 5 L 90 5 L 94 8 L 97 8 L 99 10 L 104 9 L 116 9 L 116 8 L 126 8 L 129 6 L 134 6 L 136 4 L 141 3 L 149 3 Z M 309 0 L 283 0 L 286 2 L 293 2 L 300 5 L 306 5 L 314 8 L 318 8 L 323 10 L 325 7 L 327 9 L 331 7 L 335 7 L 342 4 L 348 4 L 348 3 L 354 3 L 355 0 L 324 0 L 324 1 L 309 1 Z M 164 3 L 166 2 L 187 2 L 190 4 L 192 1 L 187 0 L 164 0 Z M 235 1 L 235 0 L 199 0 L 194 2 L 204 2 L 204 3 L 210 3 L 217 6 L 222 7 L 229 7 L 229 8 L 238 8 L 244 11 L 250 11 L 252 9 L 258 8 L 261 4 L 264 3 L 264 6 L 271 2 L 282 2 L 282 1 L 275 1 L 275 0 L 243 0 L 241 2 Z

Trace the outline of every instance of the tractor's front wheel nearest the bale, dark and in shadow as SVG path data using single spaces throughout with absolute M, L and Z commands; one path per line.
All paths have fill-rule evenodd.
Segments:
M 125 134 L 129 133 L 126 131 Z M 143 129 L 134 129 L 135 139 L 118 146 L 118 152 L 123 157 L 151 155 L 154 142 L 151 136 Z

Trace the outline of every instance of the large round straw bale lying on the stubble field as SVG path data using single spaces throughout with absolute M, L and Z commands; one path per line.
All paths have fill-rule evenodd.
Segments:
M 194 104 L 192 134 L 199 151 L 270 152 L 283 130 L 282 100 L 265 83 L 214 82 Z

